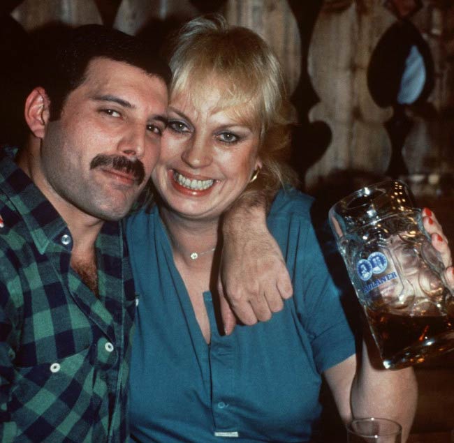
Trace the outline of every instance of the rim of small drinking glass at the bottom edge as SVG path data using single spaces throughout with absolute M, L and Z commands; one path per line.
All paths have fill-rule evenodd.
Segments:
M 369 417 L 347 426 L 348 443 L 401 443 L 402 426 L 397 421 Z

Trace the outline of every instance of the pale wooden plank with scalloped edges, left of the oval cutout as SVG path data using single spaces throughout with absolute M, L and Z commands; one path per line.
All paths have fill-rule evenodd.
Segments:
M 330 3 L 318 16 L 308 63 L 321 100 L 309 112 L 309 119 L 328 123 L 332 140 L 321 160 L 307 172 L 309 190 L 336 169 L 381 174 L 390 158 L 383 123 L 392 110 L 374 103 L 367 87 L 367 67 L 379 38 L 396 19 L 378 2 L 369 2 L 363 10 L 358 10 L 357 3 L 342 10 Z

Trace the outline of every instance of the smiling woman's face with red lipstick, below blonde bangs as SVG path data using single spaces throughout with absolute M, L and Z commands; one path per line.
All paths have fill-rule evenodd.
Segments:
M 214 219 L 242 193 L 261 166 L 259 130 L 219 106 L 207 87 L 195 105 L 190 94 L 170 100 L 168 128 L 152 179 L 168 207 L 184 218 Z

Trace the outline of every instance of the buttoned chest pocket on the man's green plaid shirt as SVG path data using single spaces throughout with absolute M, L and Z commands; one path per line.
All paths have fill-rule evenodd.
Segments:
M 92 396 L 96 383 L 91 364 L 93 347 L 64 359 L 31 367 L 15 368 L 15 380 L 10 398 L 10 412 L 17 423 L 17 432 L 34 431 L 34 441 L 59 442 L 55 429 L 71 429 L 76 423 L 80 436 L 89 432 L 99 405 Z M 99 399 L 101 403 L 101 399 Z M 50 431 L 52 430 L 52 431 Z M 40 433 L 43 435 L 39 435 Z M 57 432 L 64 440 L 64 433 Z M 43 438 L 43 440 L 40 440 Z

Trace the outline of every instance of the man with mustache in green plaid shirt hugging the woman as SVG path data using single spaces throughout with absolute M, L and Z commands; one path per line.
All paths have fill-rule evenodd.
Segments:
M 136 300 L 117 220 L 159 156 L 170 71 L 151 46 L 98 25 L 60 46 L 27 97 L 27 143 L 0 158 L 0 438 L 124 442 Z M 281 307 L 281 290 L 256 301 L 229 279 L 245 323 Z M 230 332 L 226 302 L 224 318 Z

